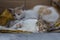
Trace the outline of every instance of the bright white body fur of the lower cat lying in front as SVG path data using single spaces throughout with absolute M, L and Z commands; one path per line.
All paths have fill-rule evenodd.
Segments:
M 36 26 L 37 19 L 28 19 L 22 21 L 22 28 L 18 28 L 18 30 L 29 31 L 29 32 L 38 32 L 38 27 Z M 21 23 L 21 22 L 19 22 Z M 17 24 L 19 24 L 17 23 Z M 13 28 L 16 27 L 16 24 Z

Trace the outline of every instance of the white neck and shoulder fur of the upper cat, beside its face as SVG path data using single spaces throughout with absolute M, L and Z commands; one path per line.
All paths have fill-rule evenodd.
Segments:
M 37 19 L 38 18 L 38 14 L 34 11 L 34 10 L 22 10 L 21 11 L 21 15 L 16 15 L 16 18 L 19 20 L 20 18 L 24 17 L 23 19 Z

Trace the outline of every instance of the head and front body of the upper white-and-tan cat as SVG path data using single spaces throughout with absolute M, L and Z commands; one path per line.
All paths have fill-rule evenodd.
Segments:
M 12 10 L 12 13 L 15 15 L 15 21 L 11 21 L 10 24 L 12 23 L 17 23 L 19 22 L 21 19 L 22 20 L 27 20 L 27 19 L 37 19 L 38 18 L 38 14 L 33 11 L 33 9 L 29 9 L 29 10 L 22 10 L 20 7 L 16 7 L 14 9 L 10 8 L 10 10 Z M 14 23 L 14 24 L 15 24 Z

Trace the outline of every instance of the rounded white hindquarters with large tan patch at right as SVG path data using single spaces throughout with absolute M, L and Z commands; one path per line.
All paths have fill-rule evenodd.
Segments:
M 59 18 L 59 14 L 54 7 L 40 7 L 38 13 L 43 20 L 49 23 L 54 23 Z

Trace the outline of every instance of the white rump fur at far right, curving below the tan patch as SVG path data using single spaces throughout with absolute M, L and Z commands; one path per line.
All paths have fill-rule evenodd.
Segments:
M 53 7 L 49 7 L 48 9 L 50 9 L 52 11 L 51 14 L 43 15 L 42 19 L 47 21 L 47 22 L 52 22 L 52 23 L 56 22 L 59 18 L 58 12 Z

